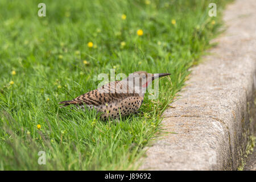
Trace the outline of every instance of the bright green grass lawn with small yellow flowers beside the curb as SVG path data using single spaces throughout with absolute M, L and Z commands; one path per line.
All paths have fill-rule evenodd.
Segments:
M 217 35 L 226 2 L 55 0 L 43 1 L 46 17 L 38 17 L 40 2 L 0 1 L 0 169 L 137 169 L 143 147 L 162 133 L 160 115 Z M 208 16 L 210 2 L 217 17 Z M 59 108 L 112 68 L 172 75 L 159 81 L 157 100 L 146 95 L 144 115 L 121 122 Z M 41 150 L 46 165 L 38 164 Z

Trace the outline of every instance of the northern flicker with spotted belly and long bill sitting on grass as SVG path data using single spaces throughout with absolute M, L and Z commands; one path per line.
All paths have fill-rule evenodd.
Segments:
M 77 105 L 81 108 L 96 109 L 102 119 L 119 118 L 136 112 L 141 107 L 148 85 L 159 77 L 169 73 L 151 74 L 144 71 L 131 73 L 121 81 L 109 82 L 96 90 L 92 90 L 71 101 L 59 104 Z

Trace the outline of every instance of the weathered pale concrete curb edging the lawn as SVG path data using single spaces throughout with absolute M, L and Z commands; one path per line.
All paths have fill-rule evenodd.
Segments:
M 148 148 L 140 169 L 232 170 L 255 127 L 256 1 L 227 7 L 228 29 L 213 54 L 164 113 L 167 134 Z

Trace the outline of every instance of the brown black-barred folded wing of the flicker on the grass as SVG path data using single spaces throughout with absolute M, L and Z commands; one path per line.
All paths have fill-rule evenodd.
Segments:
M 122 89 L 126 91 L 124 92 Z M 128 89 L 126 89 L 126 86 L 123 86 L 122 82 L 113 81 L 102 86 L 101 88 L 82 94 L 81 96 L 74 98 L 72 101 L 63 101 L 63 103 L 60 102 L 60 104 L 86 104 L 99 106 L 105 105 L 106 103 L 115 102 L 122 98 L 137 96 L 137 94 L 134 93 L 127 93 L 127 90 Z

